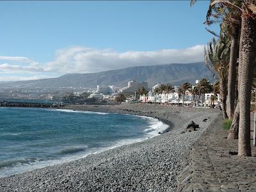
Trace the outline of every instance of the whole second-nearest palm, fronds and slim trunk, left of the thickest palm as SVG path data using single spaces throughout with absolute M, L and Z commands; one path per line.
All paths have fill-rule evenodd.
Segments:
M 221 3 L 211 1 L 211 6 L 207 12 L 205 24 L 221 22 L 221 28 L 230 40 L 230 60 L 228 65 L 228 93 L 227 112 L 228 118 L 232 119 L 235 108 L 236 97 L 236 65 L 239 56 L 239 36 L 241 28 L 241 12 L 234 6 L 223 6 Z M 234 1 L 236 6 L 241 6 L 242 1 Z

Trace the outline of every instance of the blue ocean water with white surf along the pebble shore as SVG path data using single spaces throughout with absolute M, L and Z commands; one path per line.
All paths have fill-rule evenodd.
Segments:
M 142 141 L 167 127 L 146 116 L 0 108 L 0 177 Z

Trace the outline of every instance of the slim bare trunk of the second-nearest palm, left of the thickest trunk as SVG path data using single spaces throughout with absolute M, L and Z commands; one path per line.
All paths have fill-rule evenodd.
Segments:
M 236 63 L 239 51 L 239 25 L 232 28 L 231 45 L 230 45 L 230 60 L 228 67 L 228 119 L 232 119 L 235 109 L 235 94 L 236 90 Z

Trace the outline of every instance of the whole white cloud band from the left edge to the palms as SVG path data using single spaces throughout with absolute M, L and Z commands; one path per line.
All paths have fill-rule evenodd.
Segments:
M 204 61 L 204 45 L 195 45 L 187 49 L 127 52 L 116 52 L 112 49 L 69 47 L 56 51 L 54 61 L 47 63 L 37 63 L 20 56 L 0 56 L 0 60 L 8 61 L 0 64 L 0 74 L 10 75 L 9 77 L 0 76 L 0 81 L 15 78 L 15 80 L 25 80 L 39 78 L 38 76 L 35 77 L 36 72 L 44 73 L 47 77 L 48 74 L 54 73 L 88 73 L 141 65 Z M 15 73 L 17 74 L 16 77 Z M 33 73 L 34 76 L 31 76 Z M 18 74 L 22 74 L 22 76 L 18 76 Z

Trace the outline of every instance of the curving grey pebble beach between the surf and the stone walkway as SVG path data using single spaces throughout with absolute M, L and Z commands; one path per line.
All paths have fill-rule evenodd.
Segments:
M 217 109 L 154 104 L 66 106 L 65 109 L 150 116 L 169 128 L 138 143 L 1 178 L 0 191 L 176 191 L 183 155 L 218 121 L 220 114 Z M 200 128 L 184 132 L 191 120 Z

